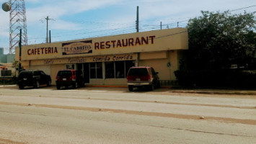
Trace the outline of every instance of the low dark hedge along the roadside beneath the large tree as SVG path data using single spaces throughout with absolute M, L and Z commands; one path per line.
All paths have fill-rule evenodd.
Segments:
M 255 71 L 237 69 L 175 71 L 175 76 L 179 85 L 183 87 L 256 89 Z

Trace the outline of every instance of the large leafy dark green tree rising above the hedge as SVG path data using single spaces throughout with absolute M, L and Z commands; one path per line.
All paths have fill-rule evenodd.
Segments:
M 203 16 L 187 24 L 188 68 L 216 70 L 232 64 L 250 65 L 256 52 L 255 13 L 201 13 Z

